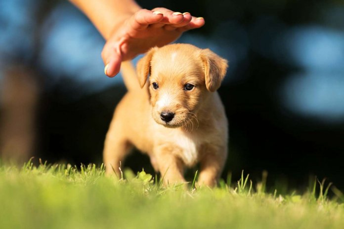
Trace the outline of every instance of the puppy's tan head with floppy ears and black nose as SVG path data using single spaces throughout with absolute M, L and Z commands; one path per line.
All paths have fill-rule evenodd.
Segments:
M 139 60 L 141 87 L 150 75 L 149 92 L 154 120 L 166 127 L 188 125 L 207 96 L 226 74 L 227 61 L 209 49 L 190 44 L 154 47 Z

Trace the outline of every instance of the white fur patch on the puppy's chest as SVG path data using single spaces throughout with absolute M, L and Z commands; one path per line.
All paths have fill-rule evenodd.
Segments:
M 178 135 L 175 138 L 175 144 L 183 151 L 182 159 L 185 164 L 192 165 L 197 160 L 197 145 L 195 141 L 185 135 Z

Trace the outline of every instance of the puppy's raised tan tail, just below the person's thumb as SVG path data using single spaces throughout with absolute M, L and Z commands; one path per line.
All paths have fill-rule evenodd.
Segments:
M 131 61 L 122 62 L 121 73 L 124 84 L 126 85 L 128 91 L 141 89 L 140 84 L 138 83 L 135 68 Z

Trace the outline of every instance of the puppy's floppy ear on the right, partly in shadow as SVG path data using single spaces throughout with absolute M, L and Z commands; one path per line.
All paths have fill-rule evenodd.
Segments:
M 227 72 L 227 60 L 219 57 L 210 49 L 201 51 L 201 59 L 204 64 L 204 75 L 206 79 L 206 87 L 209 91 L 216 91 Z

